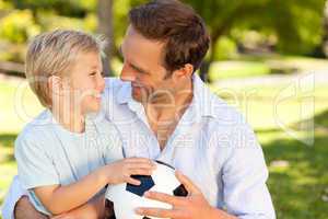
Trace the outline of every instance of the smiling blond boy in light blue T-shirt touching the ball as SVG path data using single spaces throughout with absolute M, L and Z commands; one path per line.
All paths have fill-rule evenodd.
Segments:
M 61 215 L 87 203 L 107 184 L 138 185 L 154 164 L 124 159 L 115 127 L 101 116 L 104 41 L 78 31 L 38 35 L 26 55 L 26 78 L 46 110 L 15 141 L 19 177 L 34 207 Z M 110 186 L 110 185 L 109 185 Z

